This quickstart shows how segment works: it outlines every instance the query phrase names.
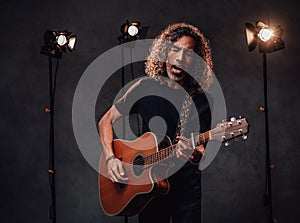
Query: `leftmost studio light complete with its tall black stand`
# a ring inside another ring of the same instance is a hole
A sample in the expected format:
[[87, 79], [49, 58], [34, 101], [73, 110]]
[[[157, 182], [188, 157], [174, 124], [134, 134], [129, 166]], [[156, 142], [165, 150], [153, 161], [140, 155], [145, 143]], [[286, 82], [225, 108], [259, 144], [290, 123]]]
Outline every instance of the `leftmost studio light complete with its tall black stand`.
[[[70, 35], [68, 31], [50, 31], [47, 30], [44, 34], [44, 45], [41, 48], [41, 54], [48, 56], [49, 63], [49, 107], [45, 112], [50, 115], [49, 119], [49, 186], [51, 193], [51, 204], [49, 206], [49, 219], [56, 223], [56, 193], [55, 193], [55, 147], [54, 147], [54, 110], [55, 110], [55, 90], [56, 77], [58, 71], [59, 59], [62, 52], [73, 51], [75, 46], [75, 35]], [[52, 57], [57, 58], [55, 73], [52, 74]]]

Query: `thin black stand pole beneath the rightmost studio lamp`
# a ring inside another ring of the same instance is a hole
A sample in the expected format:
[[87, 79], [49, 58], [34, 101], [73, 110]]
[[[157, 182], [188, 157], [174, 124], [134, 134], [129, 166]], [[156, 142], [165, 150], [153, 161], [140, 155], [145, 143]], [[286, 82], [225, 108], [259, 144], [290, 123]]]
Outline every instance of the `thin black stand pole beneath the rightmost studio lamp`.
[[266, 182], [263, 195], [264, 206], [267, 212], [268, 223], [274, 223], [272, 211], [272, 185], [271, 185], [271, 164], [269, 144], [269, 108], [268, 108], [268, 86], [267, 86], [267, 55], [262, 53], [263, 81], [264, 81], [264, 113], [265, 113], [265, 140], [266, 140]]

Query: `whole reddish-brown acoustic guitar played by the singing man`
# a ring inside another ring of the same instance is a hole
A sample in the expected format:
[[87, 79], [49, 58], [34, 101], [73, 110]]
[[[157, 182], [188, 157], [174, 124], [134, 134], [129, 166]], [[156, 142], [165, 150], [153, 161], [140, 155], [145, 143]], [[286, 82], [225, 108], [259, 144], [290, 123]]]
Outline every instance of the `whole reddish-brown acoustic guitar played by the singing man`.
[[[247, 138], [246, 118], [218, 123], [204, 133], [192, 134], [188, 143], [196, 146], [218, 140], [225, 142], [242, 136]], [[128, 181], [113, 183], [106, 175], [104, 155], [100, 158], [99, 196], [103, 211], [109, 216], [133, 216], [138, 214], [153, 198], [168, 193], [168, 162], [175, 156], [176, 144], [160, 148], [155, 134], [147, 132], [133, 141], [113, 140], [115, 157], [123, 162]], [[174, 158], [173, 158], [174, 159]]]

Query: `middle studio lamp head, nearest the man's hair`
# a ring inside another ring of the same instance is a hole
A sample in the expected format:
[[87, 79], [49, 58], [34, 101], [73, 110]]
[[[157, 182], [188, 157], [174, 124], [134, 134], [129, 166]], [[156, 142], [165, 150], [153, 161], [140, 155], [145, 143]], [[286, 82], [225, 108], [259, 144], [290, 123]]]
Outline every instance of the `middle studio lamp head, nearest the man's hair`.
[[141, 26], [140, 22], [129, 22], [128, 20], [121, 26], [121, 35], [118, 37], [119, 43], [127, 43], [146, 37], [148, 27]]

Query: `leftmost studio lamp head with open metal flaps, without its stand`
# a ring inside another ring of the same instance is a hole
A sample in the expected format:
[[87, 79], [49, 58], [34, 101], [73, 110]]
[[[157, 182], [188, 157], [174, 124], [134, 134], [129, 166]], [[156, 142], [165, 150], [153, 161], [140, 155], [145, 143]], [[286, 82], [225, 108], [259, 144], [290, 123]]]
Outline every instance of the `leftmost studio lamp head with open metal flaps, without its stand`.
[[70, 52], [74, 50], [76, 35], [71, 35], [72, 33], [65, 31], [51, 31], [47, 30], [44, 34], [44, 46], [42, 46], [41, 53], [55, 57], [61, 58], [62, 52]]

